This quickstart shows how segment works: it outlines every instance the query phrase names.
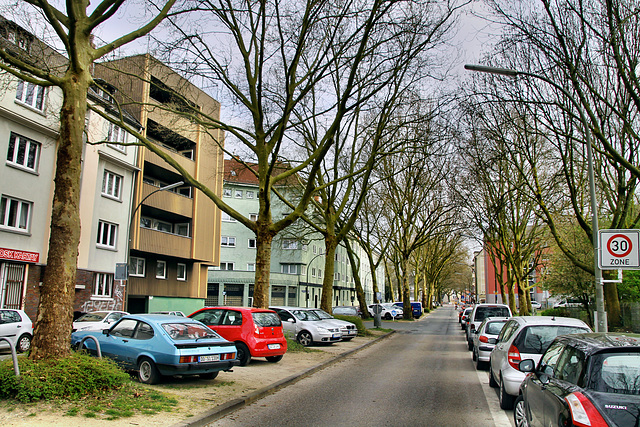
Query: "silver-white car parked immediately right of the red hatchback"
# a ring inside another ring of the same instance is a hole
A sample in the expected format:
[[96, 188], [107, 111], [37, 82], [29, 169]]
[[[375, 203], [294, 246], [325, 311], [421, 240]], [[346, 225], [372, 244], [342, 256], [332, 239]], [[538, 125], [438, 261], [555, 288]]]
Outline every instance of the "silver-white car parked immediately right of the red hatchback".
[[285, 333], [293, 337], [303, 346], [313, 343], [333, 343], [342, 339], [340, 328], [333, 323], [320, 319], [312, 308], [304, 307], [269, 307], [280, 316]]

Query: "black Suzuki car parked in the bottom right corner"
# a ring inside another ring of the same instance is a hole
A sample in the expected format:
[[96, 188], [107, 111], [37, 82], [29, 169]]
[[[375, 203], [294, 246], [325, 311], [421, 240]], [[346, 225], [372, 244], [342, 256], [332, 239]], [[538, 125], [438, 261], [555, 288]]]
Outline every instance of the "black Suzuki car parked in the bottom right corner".
[[556, 338], [520, 387], [516, 426], [634, 426], [640, 419], [640, 335], [573, 334]]

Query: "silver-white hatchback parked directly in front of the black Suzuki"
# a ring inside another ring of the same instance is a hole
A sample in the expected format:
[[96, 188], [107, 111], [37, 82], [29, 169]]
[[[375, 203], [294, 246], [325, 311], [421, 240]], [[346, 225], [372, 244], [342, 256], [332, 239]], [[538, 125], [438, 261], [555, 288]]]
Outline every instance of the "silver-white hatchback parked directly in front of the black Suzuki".
[[504, 325], [489, 360], [489, 385], [499, 387], [500, 407], [511, 409], [525, 374], [518, 364], [524, 359], [536, 363], [551, 342], [560, 335], [591, 332], [582, 320], [570, 317], [516, 316]]

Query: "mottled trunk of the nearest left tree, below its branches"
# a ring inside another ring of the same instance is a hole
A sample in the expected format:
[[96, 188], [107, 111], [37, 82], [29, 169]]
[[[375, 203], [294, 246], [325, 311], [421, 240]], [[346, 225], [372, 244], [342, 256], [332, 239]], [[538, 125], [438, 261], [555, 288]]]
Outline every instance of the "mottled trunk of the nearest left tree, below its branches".
[[34, 360], [59, 358], [70, 351], [80, 242], [82, 136], [90, 78], [84, 70], [68, 76], [63, 87], [47, 267], [31, 345]]

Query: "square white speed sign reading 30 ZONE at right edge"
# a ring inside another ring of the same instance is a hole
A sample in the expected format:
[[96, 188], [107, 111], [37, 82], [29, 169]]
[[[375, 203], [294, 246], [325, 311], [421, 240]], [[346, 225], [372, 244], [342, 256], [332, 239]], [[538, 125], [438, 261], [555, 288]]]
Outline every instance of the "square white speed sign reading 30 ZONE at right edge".
[[639, 269], [640, 230], [600, 230], [600, 268]]

